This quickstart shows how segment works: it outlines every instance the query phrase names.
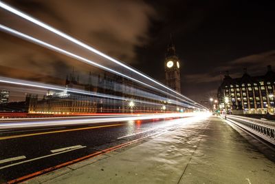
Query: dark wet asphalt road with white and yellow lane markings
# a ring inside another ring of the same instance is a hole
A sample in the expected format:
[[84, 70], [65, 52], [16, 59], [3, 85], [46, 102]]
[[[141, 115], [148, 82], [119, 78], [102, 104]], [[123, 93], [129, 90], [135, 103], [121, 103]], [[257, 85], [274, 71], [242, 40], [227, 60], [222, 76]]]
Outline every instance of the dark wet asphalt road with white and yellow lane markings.
[[0, 130], [0, 183], [167, 131], [188, 119]]

